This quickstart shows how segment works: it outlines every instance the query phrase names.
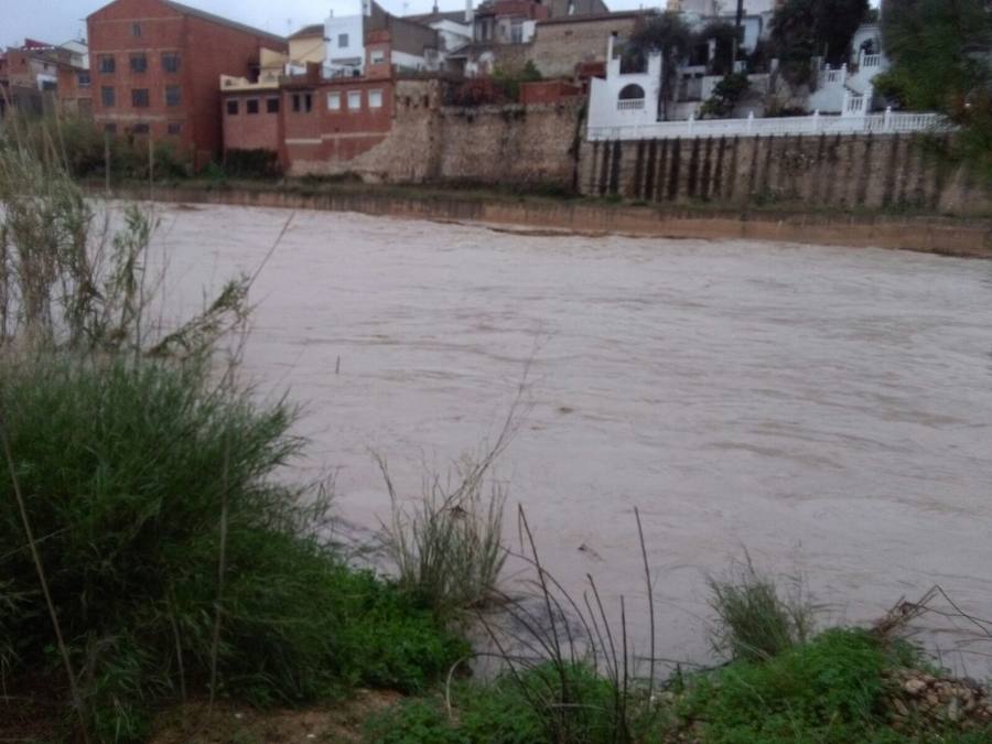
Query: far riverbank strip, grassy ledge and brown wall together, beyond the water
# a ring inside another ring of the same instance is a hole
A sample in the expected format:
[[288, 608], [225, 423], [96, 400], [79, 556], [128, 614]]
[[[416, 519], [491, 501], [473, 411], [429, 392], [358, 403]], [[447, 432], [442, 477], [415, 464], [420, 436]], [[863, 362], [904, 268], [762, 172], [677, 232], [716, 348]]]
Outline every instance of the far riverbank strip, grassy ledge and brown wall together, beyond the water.
[[[91, 185], [91, 191], [101, 187]], [[852, 248], [888, 248], [992, 258], [992, 217], [883, 212], [729, 209], [657, 206], [495, 190], [368, 185], [353, 182], [185, 181], [122, 184], [120, 198], [356, 212], [375, 216], [481, 224], [527, 234], [748, 239]]]

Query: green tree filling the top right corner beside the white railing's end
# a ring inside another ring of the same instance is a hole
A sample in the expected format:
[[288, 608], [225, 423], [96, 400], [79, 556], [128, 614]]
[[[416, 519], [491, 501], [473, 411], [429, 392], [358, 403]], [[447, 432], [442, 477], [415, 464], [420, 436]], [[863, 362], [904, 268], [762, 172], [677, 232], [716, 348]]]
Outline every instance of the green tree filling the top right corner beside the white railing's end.
[[882, 33], [893, 64], [876, 90], [947, 115], [961, 127], [953, 154], [992, 179], [992, 1], [886, 0]]

